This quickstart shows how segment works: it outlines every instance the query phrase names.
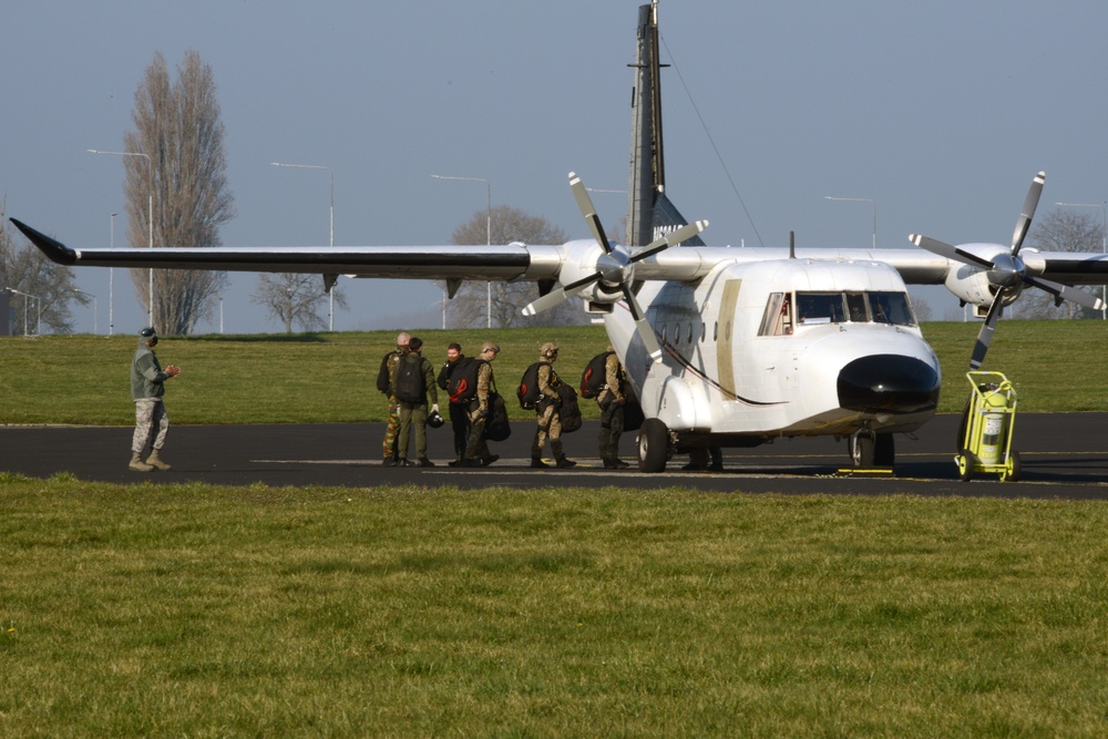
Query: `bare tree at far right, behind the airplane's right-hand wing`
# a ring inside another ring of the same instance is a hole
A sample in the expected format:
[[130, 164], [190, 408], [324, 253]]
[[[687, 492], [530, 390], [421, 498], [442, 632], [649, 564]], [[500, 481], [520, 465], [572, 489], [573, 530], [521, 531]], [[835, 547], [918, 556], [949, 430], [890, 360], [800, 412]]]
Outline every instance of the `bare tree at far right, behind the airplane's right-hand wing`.
[[[1100, 252], [1104, 236], [1104, 225], [1097, 215], [1071, 208], [1055, 208], [1035, 223], [1027, 235], [1027, 245], [1044, 252]], [[1055, 306], [1053, 295], [1032, 288], [1024, 290], [1007, 310], [1012, 310], [1013, 318], [1100, 317], [1098, 311], [1069, 300]]]

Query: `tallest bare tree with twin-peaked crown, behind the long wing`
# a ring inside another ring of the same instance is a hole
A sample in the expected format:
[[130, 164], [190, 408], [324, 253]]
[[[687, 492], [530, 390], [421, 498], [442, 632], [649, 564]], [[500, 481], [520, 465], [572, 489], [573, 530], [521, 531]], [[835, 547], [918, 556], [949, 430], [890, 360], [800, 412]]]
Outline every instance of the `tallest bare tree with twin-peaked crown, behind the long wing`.
[[[220, 246], [218, 228], [235, 217], [235, 201], [224, 174], [215, 78], [197, 52], [185, 52], [171, 84], [162, 54], [155, 53], [135, 92], [134, 131], [123, 136], [126, 167], [127, 239], [148, 245], [148, 201], [153, 197], [153, 239], [158, 246]], [[138, 298], [147, 301], [145, 269], [132, 269]], [[154, 273], [154, 325], [163, 333], [188, 333], [216, 305], [226, 273]]]

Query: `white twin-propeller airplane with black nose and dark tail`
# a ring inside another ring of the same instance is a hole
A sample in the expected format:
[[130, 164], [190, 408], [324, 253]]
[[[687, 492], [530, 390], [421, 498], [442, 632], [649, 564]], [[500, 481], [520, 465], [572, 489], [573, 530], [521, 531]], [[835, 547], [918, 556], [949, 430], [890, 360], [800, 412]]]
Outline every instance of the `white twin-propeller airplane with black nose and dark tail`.
[[[665, 196], [657, 4], [639, 9], [629, 233], [611, 243], [581, 178], [570, 184], [592, 232], [561, 245], [74, 249], [12, 223], [70, 266], [154, 267], [356, 277], [532, 281], [526, 315], [581, 297], [603, 315], [643, 408], [638, 465], [659, 472], [675, 452], [753, 447], [778, 438], [848, 440], [856, 468], [892, 466], [895, 433], [917, 430], [938, 403], [941, 370], [906, 284], [945, 285], [988, 307], [973, 351], [979, 366], [1004, 306], [1030, 285], [1100, 309], [1071, 285], [1108, 281], [1108, 257], [1020, 254], [1043, 189], [1032, 183], [1010, 246], [951, 246], [912, 236], [906, 249], [702, 246], [707, 222], [685, 224]], [[646, 236], [643, 236], [646, 235]], [[695, 244], [680, 246], [680, 244]], [[1050, 279], [1047, 279], [1049, 277]]]

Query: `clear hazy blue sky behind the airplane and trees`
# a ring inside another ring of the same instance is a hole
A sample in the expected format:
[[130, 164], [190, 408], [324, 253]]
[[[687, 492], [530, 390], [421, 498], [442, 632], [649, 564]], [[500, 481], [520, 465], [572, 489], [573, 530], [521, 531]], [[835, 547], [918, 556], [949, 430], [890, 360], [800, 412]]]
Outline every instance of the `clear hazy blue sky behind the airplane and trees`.
[[[484, 209], [485, 186], [435, 173], [485, 177], [493, 205], [583, 237], [566, 174], [627, 186], [639, 4], [7, 0], [0, 196], [72, 246], [106, 245], [123, 163], [85, 150], [122, 148], [155, 52], [175, 68], [195, 49], [226, 127], [238, 212], [226, 245], [327, 244], [327, 173], [275, 161], [332, 170], [337, 244], [448, 244]], [[669, 193], [711, 222], [708, 244], [757, 245], [756, 227], [767, 246], [790, 230], [801, 246], [869, 246], [871, 205], [828, 195], [875, 202], [879, 247], [913, 232], [1007, 243], [1039, 170], [1040, 215], [1108, 198], [1108, 3], [663, 0], [660, 19], [676, 62], [664, 72]], [[594, 198], [617, 225], [626, 197]], [[78, 275], [106, 332], [107, 270]], [[248, 300], [257, 276], [232, 279], [225, 330], [279, 330]], [[430, 283], [342, 284], [352, 308], [339, 330], [441, 320]], [[956, 307], [925, 295], [936, 318]], [[136, 331], [145, 311], [120, 270], [114, 298], [115, 331]], [[75, 319], [92, 330], [91, 307]]]

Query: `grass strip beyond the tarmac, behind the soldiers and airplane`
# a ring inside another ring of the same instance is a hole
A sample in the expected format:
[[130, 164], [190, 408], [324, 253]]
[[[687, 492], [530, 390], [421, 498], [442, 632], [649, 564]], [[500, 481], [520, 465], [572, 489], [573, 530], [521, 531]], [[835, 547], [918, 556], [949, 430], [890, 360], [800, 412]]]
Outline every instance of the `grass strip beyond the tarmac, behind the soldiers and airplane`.
[[[942, 412], [961, 411], [965, 371], [979, 324], [927, 324], [924, 335], [943, 367]], [[494, 338], [500, 391], [515, 392], [523, 370], [548, 340], [562, 346], [555, 366], [574, 382], [607, 339], [601, 327], [419, 331], [424, 355], [442, 361], [450, 341], [466, 353]], [[369, 333], [203, 336], [166, 338], [163, 365], [184, 368], [167, 386], [174, 423], [341, 423], [381, 421], [388, 408], [375, 387], [392, 331]], [[129, 425], [134, 422], [127, 380], [137, 339], [130, 336], [0, 338], [0, 423]], [[1104, 321], [1005, 321], [986, 368], [1012, 379], [1026, 411], [1104, 410], [1108, 398]], [[510, 403], [513, 418], [532, 413]], [[444, 407], [444, 403], [443, 403]], [[582, 403], [586, 419], [595, 403]]]

